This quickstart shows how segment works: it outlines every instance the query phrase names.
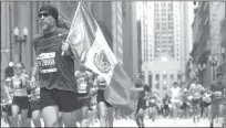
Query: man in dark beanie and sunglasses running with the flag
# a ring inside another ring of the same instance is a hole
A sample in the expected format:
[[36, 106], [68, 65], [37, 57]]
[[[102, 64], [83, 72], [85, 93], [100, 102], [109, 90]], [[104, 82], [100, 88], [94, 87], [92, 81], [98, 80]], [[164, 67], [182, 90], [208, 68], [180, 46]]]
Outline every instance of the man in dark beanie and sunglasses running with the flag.
[[[34, 84], [39, 72], [40, 107], [45, 127], [59, 127], [59, 111], [65, 127], [75, 127], [75, 114], [79, 109], [78, 86], [74, 77], [74, 60], [69, 44], [68, 31], [56, 26], [59, 12], [52, 4], [43, 4], [39, 11], [41, 32], [32, 43], [37, 55], [37, 65], [32, 72]], [[64, 52], [64, 55], [61, 53]]]

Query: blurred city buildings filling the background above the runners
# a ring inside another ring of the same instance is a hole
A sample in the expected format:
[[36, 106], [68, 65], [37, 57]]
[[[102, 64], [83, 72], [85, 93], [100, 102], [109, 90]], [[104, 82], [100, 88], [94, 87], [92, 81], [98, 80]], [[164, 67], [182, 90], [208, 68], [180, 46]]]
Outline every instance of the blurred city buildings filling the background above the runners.
[[[72, 20], [78, 2], [53, 2]], [[38, 13], [43, 1], [1, 1], [1, 83], [23, 62], [34, 65], [32, 38], [40, 32]], [[208, 1], [88, 1], [84, 2], [109, 45], [134, 79], [140, 75], [161, 98], [173, 82], [187, 87], [194, 77], [203, 86], [226, 73], [226, 3]], [[10, 63], [11, 62], [11, 63]], [[225, 77], [224, 77], [225, 78]], [[226, 82], [224, 79], [224, 82]]]

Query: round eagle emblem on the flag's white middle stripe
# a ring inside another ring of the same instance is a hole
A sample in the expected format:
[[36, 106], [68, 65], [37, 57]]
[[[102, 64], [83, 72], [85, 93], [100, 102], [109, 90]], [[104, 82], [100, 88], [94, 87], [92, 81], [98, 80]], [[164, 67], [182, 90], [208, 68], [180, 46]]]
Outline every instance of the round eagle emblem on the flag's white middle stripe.
[[111, 71], [111, 63], [104, 50], [94, 54], [93, 63], [101, 73], [109, 73]]

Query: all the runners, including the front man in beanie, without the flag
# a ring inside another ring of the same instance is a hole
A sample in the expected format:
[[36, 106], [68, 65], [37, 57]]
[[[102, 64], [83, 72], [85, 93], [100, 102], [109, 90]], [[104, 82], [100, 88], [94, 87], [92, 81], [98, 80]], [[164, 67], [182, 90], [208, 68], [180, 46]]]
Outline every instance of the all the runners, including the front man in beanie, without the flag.
[[[209, 85], [201, 85], [198, 78], [182, 88], [174, 82], [167, 95], [160, 98], [157, 90], [136, 77], [133, 92], [138, 93], [137, 109], [131, 116], [114, 108], [104, 98], [106, 81], [83, 64], [74, 70], [74, 56], [63, 42], [68, 25], [58, 24], [59, 12], [54, 6], [44, 4], [39, 12], [42, 32], [32, 41], [37, 64], [28, 75], [24, 64], [14, 65], [16, 73], [1, 86], [1, 111], [11, 127], [89, 127], [100, 121], [101, 127], [113, 127], [114, 119], [134, 119], [144, 127], [144, 119], [192, 118], [198, 122], [208, 118], [223, 119], [225, 85], [223, 74]], [[65, 54], [62, 55], [61, 53]], [[76, 86], [75, 86], [76, 85]]]

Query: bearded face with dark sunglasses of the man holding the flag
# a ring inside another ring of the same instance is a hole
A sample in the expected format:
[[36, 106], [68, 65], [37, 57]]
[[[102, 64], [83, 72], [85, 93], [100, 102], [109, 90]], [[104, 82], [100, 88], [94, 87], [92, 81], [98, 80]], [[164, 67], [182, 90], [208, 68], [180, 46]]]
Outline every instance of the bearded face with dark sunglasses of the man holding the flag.
[[42, 11], [39, 13], [39, 24], [42, 31], [49, 32], [53, 28], [54, 23], [55, 20], [49, 12]]

